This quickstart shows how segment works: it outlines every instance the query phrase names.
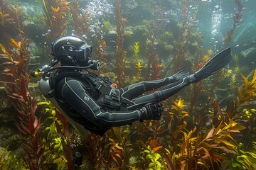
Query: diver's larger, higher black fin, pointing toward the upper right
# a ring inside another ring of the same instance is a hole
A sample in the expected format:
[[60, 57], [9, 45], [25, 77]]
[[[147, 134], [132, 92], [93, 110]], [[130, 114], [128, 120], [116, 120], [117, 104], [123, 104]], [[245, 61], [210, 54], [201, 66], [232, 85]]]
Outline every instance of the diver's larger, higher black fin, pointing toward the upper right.
[[201, 69], [195, 73], [196, 81], [205, 79], [215, 72], [220, 71], [220, 69], [223, 69], [223, 67], [229, 64], [232, 60], [233, 58], [231, 56], [231, 48], [228, 47], [227, 49], [212, 57], [205, 65], [203, 65]]

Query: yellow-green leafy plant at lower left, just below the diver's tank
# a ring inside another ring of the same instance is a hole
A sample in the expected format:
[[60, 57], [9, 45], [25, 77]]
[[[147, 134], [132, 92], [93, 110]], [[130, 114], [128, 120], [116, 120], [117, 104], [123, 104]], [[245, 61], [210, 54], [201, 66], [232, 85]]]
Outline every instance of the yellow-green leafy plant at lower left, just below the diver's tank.
[[47, 141], [50, 141], [50, 143], [45, 141], [43, 145], [45, 149], [44, 157], [50, 159], [46, 161], [53, 162], [59, 169], [63, 167], [74, 169], [71, 148], [74, 135], [70, 137], [67, 120], [55, 110], [55, 106], [52, 103], [43, 101], [39, 102], [38, 105], [47, 106], [45, 110], [50, 115], [47, 118], [50, 121], [50, 125], [45, 130], [45, 132], [48, 132]]

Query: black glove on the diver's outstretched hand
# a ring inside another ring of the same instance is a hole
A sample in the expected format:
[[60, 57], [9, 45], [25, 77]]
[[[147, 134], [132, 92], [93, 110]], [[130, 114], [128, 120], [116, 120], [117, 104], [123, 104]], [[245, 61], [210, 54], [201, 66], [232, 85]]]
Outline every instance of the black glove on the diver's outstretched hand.
[[164, 111], [161, 103], [149, 104], [140, 108], [140, 121], [143, 120], [159, 120], [161, 118], [161, 112]]

